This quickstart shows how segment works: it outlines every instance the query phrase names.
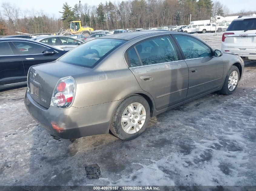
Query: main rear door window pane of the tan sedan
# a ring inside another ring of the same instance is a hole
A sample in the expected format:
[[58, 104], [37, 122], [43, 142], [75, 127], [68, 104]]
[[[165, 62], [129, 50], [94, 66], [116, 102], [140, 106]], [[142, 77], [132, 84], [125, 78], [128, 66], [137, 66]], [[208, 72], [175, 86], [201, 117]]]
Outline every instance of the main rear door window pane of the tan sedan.
[[170, 37], [147, 40], [135, 46], [142, 65], [177, 61], [178, 54]]

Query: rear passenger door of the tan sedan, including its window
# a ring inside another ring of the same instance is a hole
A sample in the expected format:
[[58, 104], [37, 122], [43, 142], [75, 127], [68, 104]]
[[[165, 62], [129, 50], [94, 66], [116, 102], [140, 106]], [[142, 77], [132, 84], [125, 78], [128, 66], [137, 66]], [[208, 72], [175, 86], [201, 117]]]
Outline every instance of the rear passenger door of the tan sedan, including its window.
[[127, 50], [129, 68], [141, 88], [154, 98], [156, 110], [186, 99], [188, 66], [175, 46], [170, 36], [160, 36]]

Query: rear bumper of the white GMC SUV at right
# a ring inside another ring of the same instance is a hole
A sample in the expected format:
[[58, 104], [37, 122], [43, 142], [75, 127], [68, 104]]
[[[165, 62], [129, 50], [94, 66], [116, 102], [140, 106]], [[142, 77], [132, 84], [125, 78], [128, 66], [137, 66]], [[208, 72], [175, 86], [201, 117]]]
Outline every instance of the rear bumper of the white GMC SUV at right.
[[246, 60], [256, 60], [256, 49], [230, 49], [230, 48], [222, 48], [222, 52], [224, 53], [232, 53], [239, 55], [242, 59]]

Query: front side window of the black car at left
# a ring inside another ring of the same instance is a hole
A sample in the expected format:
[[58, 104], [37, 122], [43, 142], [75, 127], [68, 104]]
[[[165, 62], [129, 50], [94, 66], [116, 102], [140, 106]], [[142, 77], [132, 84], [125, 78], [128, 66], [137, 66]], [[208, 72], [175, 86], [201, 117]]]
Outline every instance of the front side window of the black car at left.
[[48, 47], [35, 44], [35, 43], [29, 43], [29, 42], [20, 42], [15, 41], [13, 44], [18, 49], [19, 54], [42, 54], [45, 50], [49, 49]]

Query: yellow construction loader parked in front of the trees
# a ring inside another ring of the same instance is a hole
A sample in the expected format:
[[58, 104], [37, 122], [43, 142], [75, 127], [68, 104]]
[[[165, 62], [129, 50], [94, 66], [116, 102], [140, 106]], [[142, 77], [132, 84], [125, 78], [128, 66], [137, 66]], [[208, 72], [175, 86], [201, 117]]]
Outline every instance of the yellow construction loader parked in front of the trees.
[[83, 34], [85, 37], [91, 35], [93, 28], [87, 26], [81, 26], [81, 21], [71, 21], [69, 29], [62, 31], [59, 35], [72, 35], [72, 34]]

